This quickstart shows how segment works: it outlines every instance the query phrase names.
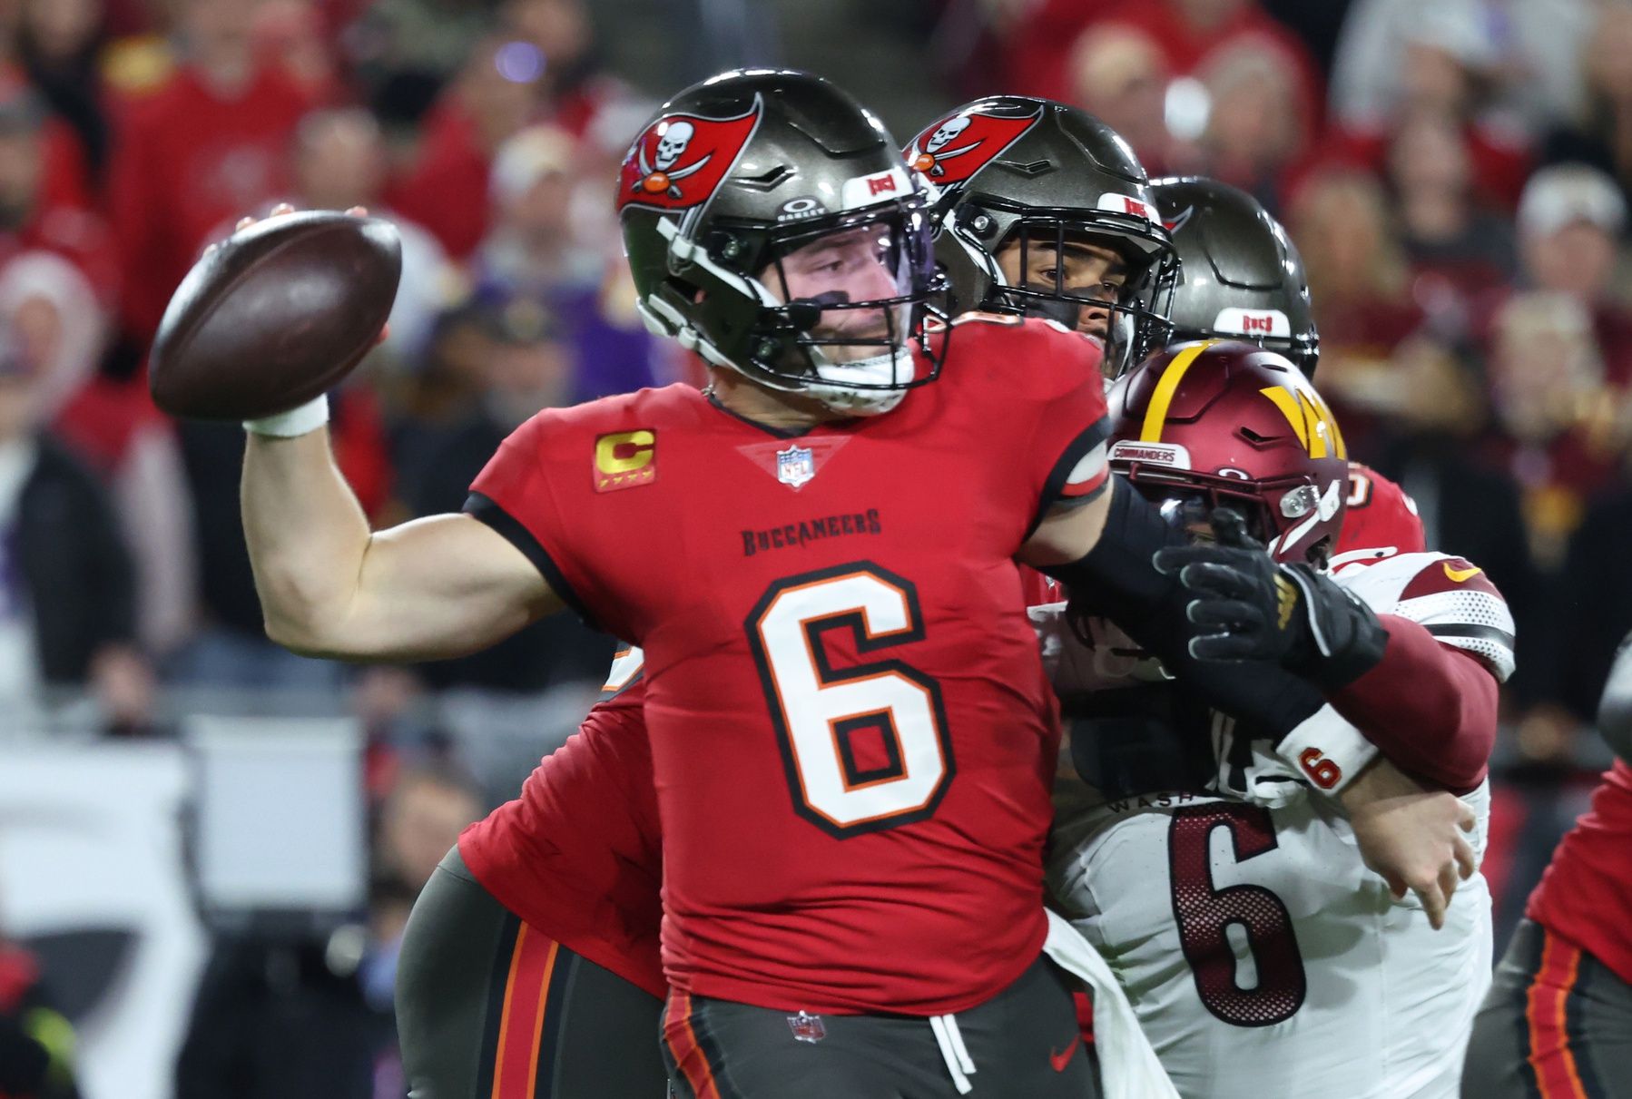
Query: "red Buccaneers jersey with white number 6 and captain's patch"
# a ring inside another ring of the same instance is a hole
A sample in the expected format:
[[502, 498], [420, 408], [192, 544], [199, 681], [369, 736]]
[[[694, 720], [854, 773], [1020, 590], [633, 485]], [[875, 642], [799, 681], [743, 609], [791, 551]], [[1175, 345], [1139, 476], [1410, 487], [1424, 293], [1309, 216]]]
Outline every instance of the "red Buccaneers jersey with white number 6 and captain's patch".
[[1036, 959], [1059, 734], [1012, 558], [1105, 486], [1097, 370], [1056, 324], [960, 323], [885, 416], [788, 435], [643, 390], [478, 476], [470, 510], [645, 649], [674, 988], [943, 1014]]

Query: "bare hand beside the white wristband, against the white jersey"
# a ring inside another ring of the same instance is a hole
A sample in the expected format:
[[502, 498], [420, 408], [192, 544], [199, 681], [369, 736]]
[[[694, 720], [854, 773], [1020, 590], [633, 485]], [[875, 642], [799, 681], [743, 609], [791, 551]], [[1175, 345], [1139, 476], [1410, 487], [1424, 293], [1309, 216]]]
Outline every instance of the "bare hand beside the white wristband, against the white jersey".
[[1444, 789], [1377, 758], [1343, 788], [1355, 841], [1366, 866], [1389, 884], [1395, 898], [1417, 894], [1438, 931], [1459, 881], [1474, 876], [1474, 810]]

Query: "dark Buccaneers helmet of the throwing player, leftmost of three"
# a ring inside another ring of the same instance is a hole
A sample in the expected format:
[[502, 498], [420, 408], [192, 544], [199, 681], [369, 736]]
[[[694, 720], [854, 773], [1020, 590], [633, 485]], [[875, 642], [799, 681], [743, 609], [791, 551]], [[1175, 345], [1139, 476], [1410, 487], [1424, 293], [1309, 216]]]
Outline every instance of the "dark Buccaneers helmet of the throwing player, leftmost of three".
[[832, 83], [761, 68], [687, 88], [630, 147], [617, 209], [646, 326], [710, 364], [854, 414], [940, 372], [927, 197]]

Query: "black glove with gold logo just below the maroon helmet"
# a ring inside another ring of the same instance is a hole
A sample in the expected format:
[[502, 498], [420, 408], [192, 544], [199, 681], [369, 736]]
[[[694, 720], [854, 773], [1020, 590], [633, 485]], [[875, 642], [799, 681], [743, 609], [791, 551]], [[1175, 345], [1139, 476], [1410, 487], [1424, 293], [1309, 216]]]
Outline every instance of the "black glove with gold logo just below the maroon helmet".
[[1389, 633], [1369, 607], [1307, 564], [1276, 564], [1240, 514], [1217, 507], [1217, 541], [1169, 546], [1155, 567], [1190, 594], [1198, 660], [1279, 660], [1324, 690], [1353, 683], [1382, 660]]

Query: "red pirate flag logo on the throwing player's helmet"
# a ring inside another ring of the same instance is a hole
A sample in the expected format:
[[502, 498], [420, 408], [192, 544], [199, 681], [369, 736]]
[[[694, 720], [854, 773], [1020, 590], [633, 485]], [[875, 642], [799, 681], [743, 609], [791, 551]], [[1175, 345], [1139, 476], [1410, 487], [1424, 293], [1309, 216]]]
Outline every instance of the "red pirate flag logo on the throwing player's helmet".
[[708, 201], [759, 124], [759, 99], [734, 119], [666, 114], [635, 139], [619, 173], [617, 209], [684, 210]]

